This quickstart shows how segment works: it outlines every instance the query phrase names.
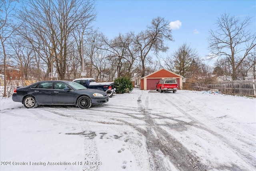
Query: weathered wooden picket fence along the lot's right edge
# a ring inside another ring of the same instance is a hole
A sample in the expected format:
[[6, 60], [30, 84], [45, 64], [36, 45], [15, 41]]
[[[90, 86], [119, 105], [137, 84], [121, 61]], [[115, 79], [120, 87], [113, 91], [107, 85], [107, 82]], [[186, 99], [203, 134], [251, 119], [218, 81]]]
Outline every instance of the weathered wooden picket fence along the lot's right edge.
[[208, 84], [210, 89], [218, 89], [224, 94], [247, 95], [256, 97], [256, 80], [224, 81]]

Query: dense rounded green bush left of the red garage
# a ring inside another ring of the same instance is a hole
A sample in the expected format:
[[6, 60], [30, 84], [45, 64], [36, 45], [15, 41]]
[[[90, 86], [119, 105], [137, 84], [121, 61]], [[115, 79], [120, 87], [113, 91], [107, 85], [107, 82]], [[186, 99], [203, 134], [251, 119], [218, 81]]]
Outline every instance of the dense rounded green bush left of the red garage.
[[130, 93], [132, 91], [132, 81], [126, 77], [120, 77], [114, 80], [116, 93], [123, 94], [123, 93]]

